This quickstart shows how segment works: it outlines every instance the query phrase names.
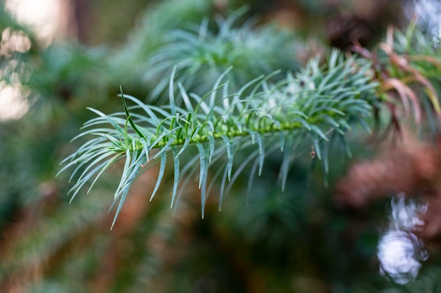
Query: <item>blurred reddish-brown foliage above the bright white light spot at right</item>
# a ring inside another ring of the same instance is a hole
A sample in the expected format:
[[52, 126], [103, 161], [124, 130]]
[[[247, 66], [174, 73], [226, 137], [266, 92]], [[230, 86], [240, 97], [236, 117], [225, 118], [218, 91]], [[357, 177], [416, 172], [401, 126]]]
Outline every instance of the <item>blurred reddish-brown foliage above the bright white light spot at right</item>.
[[[428, 202], [421, 215], [423, 240], [441, 237], [441, 138], [424, 142], [404, 129], [399, 141], [383, 143], [373, 159], [356, 162], [335, 188], [338, 204], [363, 209], [375, 200], [398, 193], [417, 196]], [[439, 240], [439, 239], [438, 239]]]

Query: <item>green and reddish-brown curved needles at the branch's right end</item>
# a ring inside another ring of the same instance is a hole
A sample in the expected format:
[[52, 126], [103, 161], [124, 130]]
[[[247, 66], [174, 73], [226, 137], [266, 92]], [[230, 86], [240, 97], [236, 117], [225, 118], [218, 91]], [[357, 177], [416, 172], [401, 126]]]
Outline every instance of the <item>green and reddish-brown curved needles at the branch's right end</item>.
[[426, 120], [433, 134], [439, 131], [441, 56], [433, 41], [411, 22], [405, 33], [388, 27], [385, 41], [372, 51], [352, 47], [371, 60], [380, 84], [378, 94], [390, 112], [389, 125], [381, 136], [390, 130], [399, 133], [404, 117], [412, 117], [418, 127]]

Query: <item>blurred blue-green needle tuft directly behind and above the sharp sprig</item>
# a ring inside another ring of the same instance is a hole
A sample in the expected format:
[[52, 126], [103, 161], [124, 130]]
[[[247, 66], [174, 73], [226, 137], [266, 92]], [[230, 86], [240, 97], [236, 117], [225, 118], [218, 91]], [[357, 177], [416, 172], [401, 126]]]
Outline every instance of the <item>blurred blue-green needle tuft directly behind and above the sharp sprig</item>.
[[242, 84], [276, 69], [297, 70], [299, 65], [292, 54], [297, 51], [292, 32], [275, 25], [255, 27], [248, 20], [240, 24], [247, 8], [242, 7], [228, 18], [216, 18], [212, 25], [208, 18], [200, 25], [170, 30], [160, 38], [161, 45], [147, 59], [144, 79], [154, 84], [150, 100], [168, 100], [168, 77], [176, 67], [176, 81], [191, 91], [209, 91], [211, 84], [222, 72], [235, 68], [230, 86], [235, 91]]

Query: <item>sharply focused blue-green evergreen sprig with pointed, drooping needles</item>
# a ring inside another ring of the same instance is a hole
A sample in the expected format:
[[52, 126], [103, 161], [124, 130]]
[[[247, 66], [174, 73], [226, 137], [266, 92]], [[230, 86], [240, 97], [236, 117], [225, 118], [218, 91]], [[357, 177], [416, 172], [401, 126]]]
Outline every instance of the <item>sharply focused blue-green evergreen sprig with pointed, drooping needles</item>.
[[[63, 160], [66, 166], [60, 172], [75, 167], [70, 179], [76, 178], [76, 183], [69, 191], [73, 198], [87, 182], [92, 181], [90, 190], [106, 169], [125, 159], [114, 195], [115, 203], [119, 203], [112, 227], [139, 172], [159, 162], [159, 176], [151, 194], [151, 198], [154, 197], [166, 170], [168, 155], [174, 165], [171, 205], [178, 200], [188, 178], [199, 169], [202, 216], [207, 190], [211, 188], [207, 186], [209, 169], [215, 162], [223, 161], [224, 166], [213, 176], [222, 176], [222, 202], [225, 190], [240, 171], [252, 164], [251, 176], [257, 169], [261, 174], [268, 153], [280, 149], [283, 190], [290, 162], [300, 143], [310, 141], [328, 171], [330, 134], [344, 141], [351, 124], [358, 122], [368, 129], [366, 119], [373, 110], [374, 90], [378, 86], [372, 82], [370, 67], [368, 63], [363, 65], [354, 57], [344, 58], [333, 51], [325, 66], [319, 66], [318, 59], [311, 60], [304, 70], [288, 74], [277, 84], [267, 82], [270, 74], [252, 80], [234, 93], [228, 90], [229, 69], [218, 77], [212, 91], [205, 96], [187, 93], [180, 82], [174, 82], [173, 70], [168, 105], [146, 105], [121, 90], [124, 112], [106, 115], [89, 108], [98, 117], [86, 122], [84, 131], [76, 138], [92, 138]], [[221, 84], [223, 80], [226, 81]], [[175, 95], [175, 87], [179, 95]], [[128, 106], [128, 101], [135, 105]], [[235, 154], [250, 145], [256, 145], [254, 152], [233, 173]], [[181, 167], [184, 155], [192, 153], [194, 148], [197, 155]], [[187, 180], [182, 181], [185, 176]]]

